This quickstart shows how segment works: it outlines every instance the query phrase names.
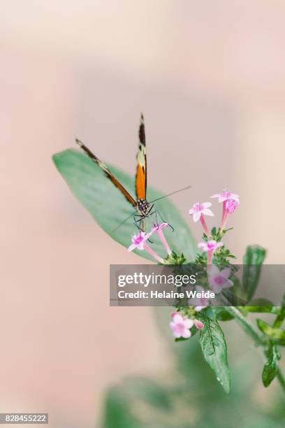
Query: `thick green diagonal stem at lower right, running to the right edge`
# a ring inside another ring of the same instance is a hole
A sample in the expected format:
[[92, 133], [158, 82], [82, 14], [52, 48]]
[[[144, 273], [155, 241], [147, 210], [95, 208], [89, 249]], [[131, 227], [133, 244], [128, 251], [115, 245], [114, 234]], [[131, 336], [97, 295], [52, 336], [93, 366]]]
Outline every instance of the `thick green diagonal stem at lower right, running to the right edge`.
[[[254, 325], [251, 323], [251, 321], [247, 320], [247, 318], [242, 315], [242, 313], [238, 310], [238, 308], [235, 308], [235, 306], [225, 306], [224, 307], [228, 313], [231, 313], [235, 320], [240, 324], [242, 329], [251, 337], [254, 339], [254, 342], [258, 346], [263, 347], [263, 352], [266, 355], [266, 347], [268, 345], [268, 340], [263, 336], [263, 334], [259, 331], [256, 331], [254, 329]], [[277, 371], [277, 379], [279, 380], [279, 384], [282, 387], [282, 390], [285, 393], [285, 376], [282, 372], [282, 369], [278, 367]]]

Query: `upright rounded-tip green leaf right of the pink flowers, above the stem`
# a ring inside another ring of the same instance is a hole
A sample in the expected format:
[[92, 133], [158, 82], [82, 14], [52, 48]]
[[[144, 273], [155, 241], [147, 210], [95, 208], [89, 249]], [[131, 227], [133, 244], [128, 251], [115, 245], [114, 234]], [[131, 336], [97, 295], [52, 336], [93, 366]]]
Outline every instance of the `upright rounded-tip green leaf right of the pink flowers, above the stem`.
[[265, 249], [258, 245], [247, 247], [242, 274], [242, 294], [244, 299], [250, 300], [254, 297], [265, 255]]

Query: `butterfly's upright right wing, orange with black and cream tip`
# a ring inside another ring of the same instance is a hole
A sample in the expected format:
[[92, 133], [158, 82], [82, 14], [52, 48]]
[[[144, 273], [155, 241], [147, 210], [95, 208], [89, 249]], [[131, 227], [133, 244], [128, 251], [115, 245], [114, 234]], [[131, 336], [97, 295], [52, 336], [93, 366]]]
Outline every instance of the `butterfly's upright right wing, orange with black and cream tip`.
[[140, 128], [138, 131], [138, 155], [136, 171], [136, 197], [146, 199], [147, 197], [147, 154], [145, 150], [145, 122], [143, 115], [140, 116]]

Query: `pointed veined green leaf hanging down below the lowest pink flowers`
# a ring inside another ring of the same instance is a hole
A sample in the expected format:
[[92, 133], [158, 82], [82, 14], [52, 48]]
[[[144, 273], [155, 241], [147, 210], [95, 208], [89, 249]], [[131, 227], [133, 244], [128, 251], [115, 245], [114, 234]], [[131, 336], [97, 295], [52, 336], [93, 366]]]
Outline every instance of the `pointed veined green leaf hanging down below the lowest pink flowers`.
[[200, 346], [204, 358], [228, 394], [231, 381], [224, 332], [217, 321], [204, 317], [203, 323], [204, 328], [200, 331]]

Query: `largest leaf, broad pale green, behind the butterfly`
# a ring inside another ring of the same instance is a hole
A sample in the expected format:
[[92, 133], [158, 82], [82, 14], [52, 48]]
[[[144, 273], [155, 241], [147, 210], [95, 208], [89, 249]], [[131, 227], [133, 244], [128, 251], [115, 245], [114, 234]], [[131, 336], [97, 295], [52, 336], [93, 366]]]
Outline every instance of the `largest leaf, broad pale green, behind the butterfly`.
[[[78, 150], [68, 149], [53, 156], [57, 169], [66, 180], [68, 187], [75, 197], [81, 202], [96, 222], [115, 241], [129, 247], [131, 236], [137, 232], [133, 224], [133, 206], [124, 198], [124, 195], [112, 184], [102, 169], [92, 162], [87, 155]], [[126, 187], [131, 194], [134, 194], [134, 178], [120, 171], [114, 166], [108, 165], [112, 173]], [[172, 189], [167, 189], [172, 190]], [[134, 195], [133, 195], [134, 196]], [[147, 188], [147, 198], [149, 201], [162, 197], [163, 194]], [[193, 240], [187, 222], [183, 219], [177, 208], [167, 198], [155, 202], [156, 210], [161, 214], [163, 220], [171, 224], [175, 231], [170, 228], [164, 229], [166, 238], [172, 250], [177, 254], [184, 252], [187, 259], [194, 259], [196, 255], [196, 243]], [[129, 217], [126, 220], [126, 217]], [[124, 222], [124, 220], [126, 220]], [[161, 218], [159, 218], [161, 221]], [[124, 222], [119, 228], [119, 224]], [[159, 238], [152, 238], [152, 248], [161, 257], [166, 257], [166, 251], [159, 241]], [[145, 259], [152, 259], [145, 251], [135, 250], [135, 252]]]

